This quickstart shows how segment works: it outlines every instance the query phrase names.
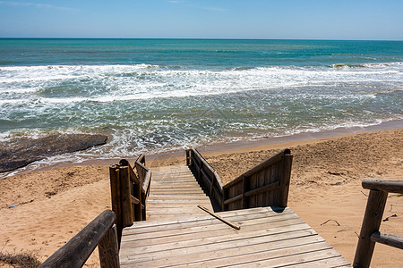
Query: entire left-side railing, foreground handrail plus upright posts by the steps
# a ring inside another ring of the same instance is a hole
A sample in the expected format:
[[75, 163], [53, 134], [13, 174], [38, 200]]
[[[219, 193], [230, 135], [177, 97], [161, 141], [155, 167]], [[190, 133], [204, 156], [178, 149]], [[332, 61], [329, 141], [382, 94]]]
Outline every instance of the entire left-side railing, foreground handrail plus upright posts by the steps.
[[81, 267], [97, 246], [102, 268], [120, 266], [122, 229], [146, 220], [146, 199], [150, 195], [151, 172], [145, 166], [145, 156], [140, 155], [134, 166], [137, 174], [125, 159], [110, 166], [113, 211], [99, 214], [40, 267]]

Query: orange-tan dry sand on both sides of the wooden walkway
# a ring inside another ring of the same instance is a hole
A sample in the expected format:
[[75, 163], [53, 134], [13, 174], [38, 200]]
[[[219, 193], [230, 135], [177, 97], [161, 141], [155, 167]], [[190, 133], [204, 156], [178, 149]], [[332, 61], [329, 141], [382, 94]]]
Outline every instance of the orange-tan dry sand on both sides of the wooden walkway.
[[[283, 148], [294, 155], [288, 206], [353, 262], [368, 190], [366, 177], [403, 179], [403, 129], [205, 154], [227, 182]], [[202, 151], [201, 151], [202, 152]], [[204, 154], [203, 154], [204, 155]], [[116, 160], [116, 163], [118, 160]], [[182, 158], [150, 166], [184, 163]], [[105, 209], [110, 209], [107, 165], [80, 165], [0, 179], [0, 249], [31, 251], [45, 260]], [[13, 208], [9, 208], [16, 205]], [[394, 217], [390, 217], [396, 215]], [[381, 230], [403, 236], [403, 197], [390, 194]], [[377, 245], [373, 267], [398, 267], [399, 249]], [[86, 266], [98, 266], [98, 252]]]

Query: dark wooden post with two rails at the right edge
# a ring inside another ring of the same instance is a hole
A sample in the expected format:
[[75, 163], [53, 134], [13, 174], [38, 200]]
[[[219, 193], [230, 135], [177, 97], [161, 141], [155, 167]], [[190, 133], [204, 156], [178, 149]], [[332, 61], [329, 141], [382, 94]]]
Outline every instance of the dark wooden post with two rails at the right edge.
[[364, 214], [354, 267], [369, 267], [373, 258], [375, 243], [403, 249], [403, 238], [379, 231], [388, 193], [403, 194], [403, 180], [364, 179], [363, 188], [370, 189]]

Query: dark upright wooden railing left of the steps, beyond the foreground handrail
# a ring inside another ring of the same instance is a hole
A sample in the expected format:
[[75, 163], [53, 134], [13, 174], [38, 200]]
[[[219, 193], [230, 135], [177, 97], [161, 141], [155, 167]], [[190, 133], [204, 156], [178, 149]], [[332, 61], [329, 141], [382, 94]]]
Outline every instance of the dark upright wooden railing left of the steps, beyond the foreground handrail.
[[145, 156], [140, 155], [134, 163], [122, 159], [109, 168], [112, 210], [116, 214], [118, 241], [124, 227], [133, 222], [146, 220], [146, 199], [150, 194], [151, 172], [145, 166]]

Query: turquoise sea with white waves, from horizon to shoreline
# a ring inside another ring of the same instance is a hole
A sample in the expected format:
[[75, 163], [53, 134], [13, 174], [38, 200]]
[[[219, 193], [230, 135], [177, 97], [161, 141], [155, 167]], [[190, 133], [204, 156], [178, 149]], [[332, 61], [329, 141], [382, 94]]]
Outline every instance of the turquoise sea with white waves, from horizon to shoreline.
[[0, 39], [0, 138], [111, 137], [79, 161], [373, 125], [402, 71], [399, 41]]

